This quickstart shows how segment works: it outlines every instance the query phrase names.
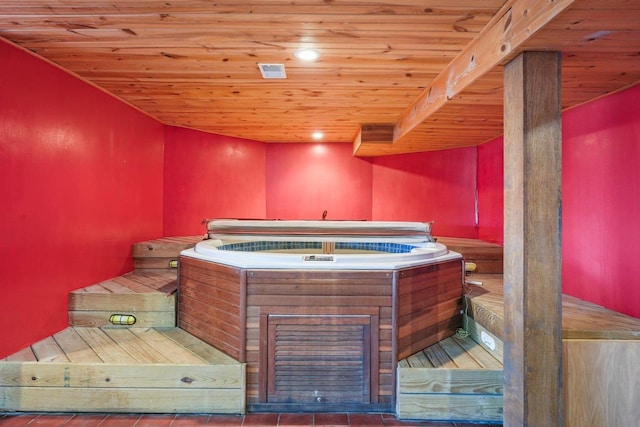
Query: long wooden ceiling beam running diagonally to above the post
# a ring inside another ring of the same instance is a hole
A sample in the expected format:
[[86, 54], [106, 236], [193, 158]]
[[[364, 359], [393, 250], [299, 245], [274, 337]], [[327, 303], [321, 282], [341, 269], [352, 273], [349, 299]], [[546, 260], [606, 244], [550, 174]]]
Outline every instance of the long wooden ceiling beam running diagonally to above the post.
[[[519, 54], [528, 40], [574, 1], [507, 0], [478, 36], [404, 110], [394, 126], [393, 139], [387, 142], [401, 144], [414, 128], [466, 88]], [[355, 155], [365, 147], [364, 141], [354, 141]]]

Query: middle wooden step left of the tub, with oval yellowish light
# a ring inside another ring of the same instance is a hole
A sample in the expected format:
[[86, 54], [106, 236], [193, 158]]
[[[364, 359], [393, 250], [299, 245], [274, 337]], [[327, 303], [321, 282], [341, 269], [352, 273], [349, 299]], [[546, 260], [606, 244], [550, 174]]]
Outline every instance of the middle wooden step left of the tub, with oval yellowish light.
[[[177, 286], [173, 271], [134, 271], [75, 290], [69, 294], [69, 325], [175, 326]], [[113, 315], [133, 316], [135, 323], [114, 325], [110, 322]]]

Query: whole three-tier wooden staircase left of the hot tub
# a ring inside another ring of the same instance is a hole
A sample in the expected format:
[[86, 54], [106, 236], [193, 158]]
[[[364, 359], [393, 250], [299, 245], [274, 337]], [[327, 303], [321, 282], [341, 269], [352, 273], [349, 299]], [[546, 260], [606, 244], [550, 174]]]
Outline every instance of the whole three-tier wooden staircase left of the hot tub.
[[0, 360], [0, 411], [244, 413], [245, 364], [175, 327], [168, 260], [199, 239], [134, 244], [135, 271], [71, 292], [69, 328]]

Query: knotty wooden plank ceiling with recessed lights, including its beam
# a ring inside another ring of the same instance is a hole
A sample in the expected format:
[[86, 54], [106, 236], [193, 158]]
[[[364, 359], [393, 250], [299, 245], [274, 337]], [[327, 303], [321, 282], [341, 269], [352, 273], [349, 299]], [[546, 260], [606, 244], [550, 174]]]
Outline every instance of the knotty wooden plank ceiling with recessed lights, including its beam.
[[0, 37], [168, 125], [358, 156], [501, 135], [524, 50], [562, 52], [563, 108], [640, 81], [640, 0], [2, 0]]

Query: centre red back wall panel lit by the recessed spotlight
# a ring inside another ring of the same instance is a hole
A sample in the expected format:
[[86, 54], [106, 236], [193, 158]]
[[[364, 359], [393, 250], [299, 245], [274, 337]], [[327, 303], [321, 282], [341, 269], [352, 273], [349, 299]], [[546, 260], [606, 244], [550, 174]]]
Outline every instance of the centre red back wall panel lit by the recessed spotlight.
[[267, 144], [267, 217], [371, 219], [371, 164], [351, 144]]

